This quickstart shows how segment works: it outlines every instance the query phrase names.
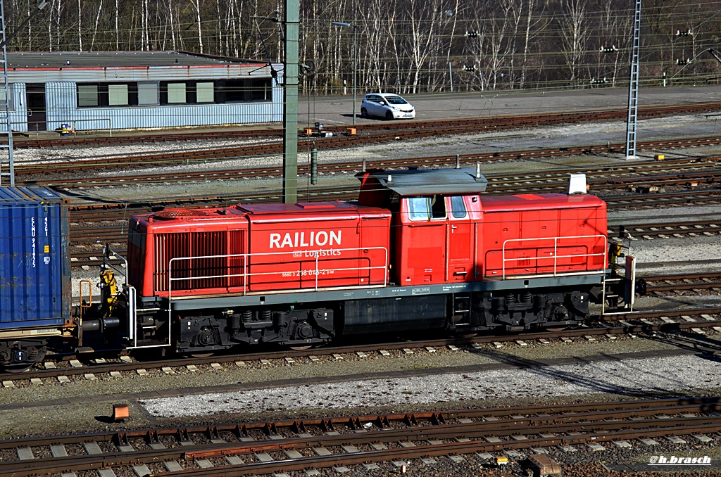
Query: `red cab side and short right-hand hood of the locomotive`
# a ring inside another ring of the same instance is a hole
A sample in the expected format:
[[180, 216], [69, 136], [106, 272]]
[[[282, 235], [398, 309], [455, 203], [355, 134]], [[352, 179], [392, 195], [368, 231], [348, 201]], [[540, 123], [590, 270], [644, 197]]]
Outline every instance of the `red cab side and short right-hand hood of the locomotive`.
[[606, 203], [598, 197], [436, 195], [401, 207], [394, 263], [403, 285], [606, 268]]

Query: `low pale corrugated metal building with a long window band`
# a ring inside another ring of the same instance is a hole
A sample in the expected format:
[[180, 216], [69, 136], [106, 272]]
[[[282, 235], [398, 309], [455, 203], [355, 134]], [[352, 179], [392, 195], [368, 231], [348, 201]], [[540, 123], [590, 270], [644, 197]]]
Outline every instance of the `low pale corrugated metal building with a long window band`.
[[283, 120], [283, 89], [267, 63], [177, 51], [8, 53], [7, 62], [15, 131]]

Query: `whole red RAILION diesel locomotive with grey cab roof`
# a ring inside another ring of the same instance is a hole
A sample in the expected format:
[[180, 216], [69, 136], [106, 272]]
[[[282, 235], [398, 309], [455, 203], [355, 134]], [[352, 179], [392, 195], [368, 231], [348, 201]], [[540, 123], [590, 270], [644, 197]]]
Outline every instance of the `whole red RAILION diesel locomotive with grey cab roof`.
[[124, 295], [133, 347], [564, 326], [603, 299], [598, 197], [486, 196], [485, 177], [469, 169], [358, 177], [357, 203], [133, 218]]

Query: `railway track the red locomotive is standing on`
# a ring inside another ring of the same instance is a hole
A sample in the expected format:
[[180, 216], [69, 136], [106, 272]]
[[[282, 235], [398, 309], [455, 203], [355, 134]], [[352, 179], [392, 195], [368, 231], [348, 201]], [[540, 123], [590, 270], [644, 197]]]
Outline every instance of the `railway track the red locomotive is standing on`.
[[[83, 354], [56, 355], [56, 361], [46, 361], [44, 368], [32, 368], [23, 373], [0, 373], [0, 381], [6, 386], [14, 386], [17, 380], [26, 385], [31, 380], [53, 380], [66, 382], [69, 378], [95, 379], [100, 375], [112, 373], [145, 374], [150, 370], [170, 374], [187, 368], [188, 366], [211, 367], [247, 367], [255, 365], [262, 367], [267, 362], [275, 360], [279, 364], [292, 364], [298, 360], [314, 362], [319, 359], [340, 360], [343, 357], [365, 357], [366, 355], [392, 355], [412, 354], [415, 352], [435, 352], [438, 348], [458, 351], [461, 347], [477, 349], [483, 345], [491, 344], [494, 347], [503, 347], [504, 344], [521, 344], [528, 342], [549, 344], [552, 340], [570, 342], [572, 339], [595, 341], [596, 339], [616, 339], [619, 335], [665, 333], [669, 331], [683, 331], [692, 334], [704, 335], [706, 331], [721, 332], [721, 308], [698, 308], [674, 311], [647, 311], [642, 313], [629, 313], [606, 317], [607, 322], [601, 321], [597, 326], [567, 329], [563, 331], [524, 331], [514, 334], [482, 335], [472, 338], [446, 338], [426, 339], [412, 342], [383, 342], [368, 344], [353, 344], [350, 346], [333, 345], [314, 349], [264, 349], [258, 352], [243, 352], [227, 355], [214, 355], [212, 357], [179, 357], [177, 359], [164, 359], [157, 361], [138, 361], [131, 357], [118, 357], [115, 350], [95, 349], [92, 358], [84, 359]], [[613, 337], [611, 337], [613, 336]], [[713, 352], [710, 350], [709, 352]], [[102, 357], [96, 360], [95, 357]], [[46, 359], [51, 360], [53, 356]], [[90, 377], [88, 377], [90, 375]], [[34, 382], [39, 383], [39, 382]]]

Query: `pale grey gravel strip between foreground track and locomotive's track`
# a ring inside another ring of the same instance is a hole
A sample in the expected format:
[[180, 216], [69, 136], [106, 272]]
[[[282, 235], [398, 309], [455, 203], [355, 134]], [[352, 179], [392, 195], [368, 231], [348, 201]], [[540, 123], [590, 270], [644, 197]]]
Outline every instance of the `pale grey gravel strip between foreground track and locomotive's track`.
[[704, 357], [681, 356], [179, 396], [148, 399], [141, 404], [153, 416], [180, 417], [279, 409], [293, 411], [308, 407], [356, 408], [483, 401], [501, 396], [547, 399], [611, 393], [629, 398], [660, 397], [690, 389], [706, 391], [719, 383], [720, 363]]

